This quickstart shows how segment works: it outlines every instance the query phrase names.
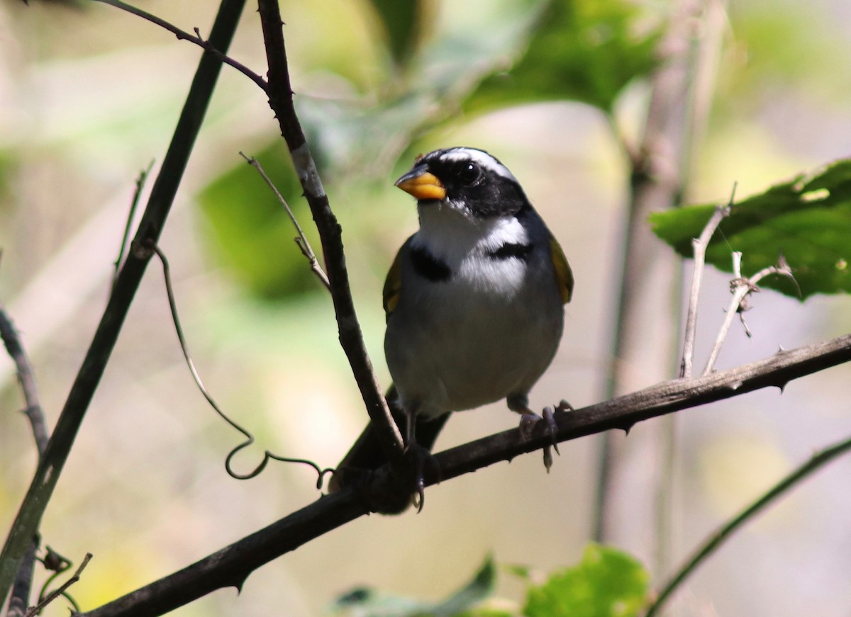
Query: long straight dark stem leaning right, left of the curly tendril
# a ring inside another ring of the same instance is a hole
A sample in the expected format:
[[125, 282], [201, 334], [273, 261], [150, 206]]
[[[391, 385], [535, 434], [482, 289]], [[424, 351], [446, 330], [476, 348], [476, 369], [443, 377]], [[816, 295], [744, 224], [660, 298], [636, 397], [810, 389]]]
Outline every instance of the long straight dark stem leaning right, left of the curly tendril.
[[[227, 49], [236, 31], [245, 0], [222, 0], [213, 25], [210, 41], [217, 49]], [[62, 467], [71, 451], [77, 431], [103, 376], [112, 348], [127, 317], [130, 304], [139, 288], [142, 275], [151, 259], [150, 250], [142, 246], [156, 244], [174, 201], [174, 195], [186, 169], [186, 163], [201, 128], [203, 116], [212, 97], [221, 63], [214, 55], [204, 53], [198, 65], [186, 105], [174, 129], [174, 138], [168, 147], [157, 182], [151, 190], [146, 211], [121, 273], [118, 275], [103, 317], [83, 359], [83, 365], [71, 386], [66, 404], [39, 464], [35, 477], [0, 553], [0, 605], [9, 594], [14, 573], [18, 570], [32, 536], [38, 529], [59, 480]]]

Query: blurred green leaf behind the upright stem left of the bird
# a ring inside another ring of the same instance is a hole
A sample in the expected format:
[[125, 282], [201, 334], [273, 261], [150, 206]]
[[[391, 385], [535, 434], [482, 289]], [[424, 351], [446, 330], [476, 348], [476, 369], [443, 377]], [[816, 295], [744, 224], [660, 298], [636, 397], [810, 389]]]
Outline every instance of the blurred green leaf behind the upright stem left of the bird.
[[[310, 209], [289, 164], [287, 150], [276, 144], [256, 155], [281, 191], [318, 250]], [[297, 233], [260, 173], [241, 157], [236, 167], [216, 178], [198, 195], [208, 225], [205, 240], [231, 275], [254, 296], [283, 299], [318, 289], [306, 258], [295, 244]]]

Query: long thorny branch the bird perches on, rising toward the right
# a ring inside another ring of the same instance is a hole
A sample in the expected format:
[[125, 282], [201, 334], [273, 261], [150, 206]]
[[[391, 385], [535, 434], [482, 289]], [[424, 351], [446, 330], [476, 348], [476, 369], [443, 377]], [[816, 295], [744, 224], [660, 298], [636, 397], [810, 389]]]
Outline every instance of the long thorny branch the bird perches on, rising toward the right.
[[[577, 439], [611, 428], [627, 428], [655, 416], [728, 399], [759, 388], [782, 387], [791, 379], [849, 361], [851, 334], [784, 351], [729, 371], [662, 382], [617, 399], [558, 414], [557, 440]], [[436, 455], [439, 479], [445, 482], [494, 462], [511, 461], [515, 456], [539, 450], [551, 443], [551, 436], [539, 433], [535, 433], [533, 439], [525, 440], [517, 429], [477, 439]], [[396, 490], [393, 480], [388, 467], [383, 467], [361, 490], [365, 490], [370, 498], [386, 494]], [[437, 480], [432, 473], [427, 484], [436, 484]], [[367, 512], [364, 494], [359, 494], [353, 485], [347, 486], [173, 575], [78, 617], [158, 615], [216, 589], [226, 586], [239, 588], [254, 569]]]

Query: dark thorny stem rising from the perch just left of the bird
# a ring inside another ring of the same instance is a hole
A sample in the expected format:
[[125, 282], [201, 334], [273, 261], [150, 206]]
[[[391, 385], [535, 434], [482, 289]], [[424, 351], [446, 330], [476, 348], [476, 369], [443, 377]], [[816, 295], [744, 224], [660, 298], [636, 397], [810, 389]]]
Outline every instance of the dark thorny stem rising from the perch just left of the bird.
[[370, 419], [380, 435], [382, 448], [391, 460], [402, 453], [402, 435], [393, 422], [387, 402], [381, 394], [378, 379], [363, 342], [363, 332], [357, 321], [355, 304], [351, 298], [346, 255], [343, 252], [342, 228], [328, 203], [316, 163], [311, 156], [305, 133], [301, 128], [293, 104], [293, 90], [289, 81], [287, 50], [283, 42], [283, 21], [277, 0], [258, 0], [260, 24], [266, 43], [266, 59], [269, 63], [269, 105], [275, 112], [283, 139], [287, 142], [293, 165], [299, 175], [305, 198], [311, 207], [313, 221], [317, 225], [322, 242], [325, 270], [328, 273], [334, 314], [340, 336], [340, 345], [346, 352], [351, 372], [361, 391]]

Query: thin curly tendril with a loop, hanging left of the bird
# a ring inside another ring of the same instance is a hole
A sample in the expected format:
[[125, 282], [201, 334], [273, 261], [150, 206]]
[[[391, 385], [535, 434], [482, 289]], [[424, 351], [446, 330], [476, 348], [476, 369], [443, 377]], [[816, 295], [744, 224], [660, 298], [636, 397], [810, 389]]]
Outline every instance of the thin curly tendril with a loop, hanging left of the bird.
[[230, 424], [231, 427], [235, 428], [240, 433], [243, 433], [243, 436], [245, 437], [245, 441], [243, 441], [242, 444], [237, 445], [236, 448], [231, 450], [231, 452], [227, 455], [225, 459], [225, 470], [228, 475], [230, 475], [231, 478], [235, 478], [237, 480], [248, 480], [250, 478], [254, 478], [260, 475], [260, 472], [262, 472], [263, 469], [266, 468], [266, 463], [268, 463], [270, 459], [282, 462], [300, 463], [313, 467], [313, 469], [316, 470], [316, 473], [319, 476], [317, 478], [317, 489], [322, 489], [323, 480], [325, 476], [328, 473], [333, 473], [333, 469], [323, 469], [322, 467], [319, 467], [315, 462], [308, 461], [307, 459], [303, 458], [289, 458], [287, 456], [277, 456], [276, 454], [272, 454], [269, 450], [266, 450], [263, 453], [263, 460], [260, 461], [260, 464], [255, 467], [253, 471], [248, 473], [237, 473], [233, 470], [233, 467], [231, 467], [231, 460], [234, 456], [237, 455], [237, 452], [248, 448], [248, 446], [251, 444], [254, 444], [254, 435], [251, 434], [248, 429], [243, 428], [242, 426], [237, 424], [235, 420], [231, 419], [230, 416], [227, 416], [227, 414], [223, 410], [221, 410], [220, 406], [215, 402], [215, 399], [213, 399], [213, 395], [209, 393], [208, 389], [201, 381], [201, 376], [198, 374], [198, 371], [195, 368], [195, 363], [192, 361], [191, 354], [189, 353], [189, 346], [186, 344], [186, 337], [184, 337], [183, 334], [183, 327], [180, 325], [180, 317], [177, 313], [177, 303], [174, 300], [174, 287], [171, 284], [171, 268], [168, 265], [168, 259], [165, 257], [165, 253], [163, 253], [159, 246], [152, 246], [151, 249], [157, 254], [157, 257], [160, 259], [160, 262], [163, 263], [163, 276], [165, 278], [166, 295], [168, 295], [168, 308], [171, 309], [171, 319], [172, 321], [174, 321], [174, 331], [177, 332], [177, 339], [180, 342], [180, 350], [183, 352], [184, 359], [186, 359], [186, 366], [189, 367], [189, 372], [192, 375], [192, 379], [195, 381], [195, 385], [201, 391], [204, 398], [207, 399], [209, 405], [220, 416], [220, 418]]

